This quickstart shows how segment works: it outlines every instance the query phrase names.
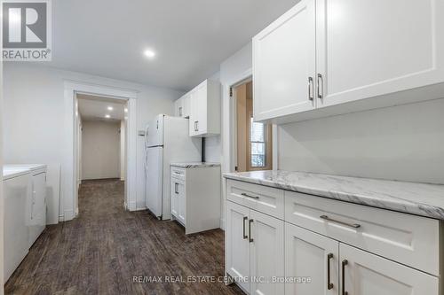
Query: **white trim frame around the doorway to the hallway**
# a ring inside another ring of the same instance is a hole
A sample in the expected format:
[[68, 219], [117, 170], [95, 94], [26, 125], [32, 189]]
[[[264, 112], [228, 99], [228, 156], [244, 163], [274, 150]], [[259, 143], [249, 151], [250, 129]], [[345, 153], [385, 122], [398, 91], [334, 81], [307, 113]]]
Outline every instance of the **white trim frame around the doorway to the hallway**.
[[75, 152], [77, 136], [75, 128], [78, 124], [76, 117], [77, 94], [107, 97], [112, 99], [126, 100], [128, 102], [127, 141], [126, 141], [126, 181], [125, 181], [125, 208], [130, 211], [136, 210], [137, 195], [137, 95], [138, 91], [132, 89], [121, 89], [111, 86], [91, 84], [87, 82], [65, 81], [65, 120], [67, 130], [65, 132], [65, 151], [63, 166], [67, 177], [62, 179], [63, 191], [61, 199], [61, 210], [59, 221], [70, 221], [78, 213], [78, 190], [77, 190], [77, 153]]

